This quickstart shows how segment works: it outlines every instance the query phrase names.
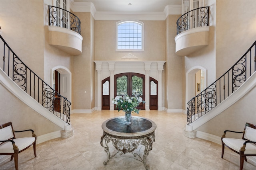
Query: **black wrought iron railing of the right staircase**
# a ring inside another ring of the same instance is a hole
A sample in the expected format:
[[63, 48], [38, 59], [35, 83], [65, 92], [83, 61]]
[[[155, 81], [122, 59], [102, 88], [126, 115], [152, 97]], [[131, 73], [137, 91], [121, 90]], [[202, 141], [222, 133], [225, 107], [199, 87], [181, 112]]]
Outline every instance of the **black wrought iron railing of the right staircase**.
[[188, 124], [199, 119], [234, 93], [256, 71], [256, 41], [214, 83], [188, 102]]

